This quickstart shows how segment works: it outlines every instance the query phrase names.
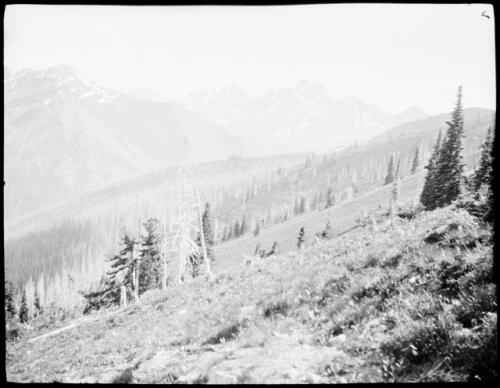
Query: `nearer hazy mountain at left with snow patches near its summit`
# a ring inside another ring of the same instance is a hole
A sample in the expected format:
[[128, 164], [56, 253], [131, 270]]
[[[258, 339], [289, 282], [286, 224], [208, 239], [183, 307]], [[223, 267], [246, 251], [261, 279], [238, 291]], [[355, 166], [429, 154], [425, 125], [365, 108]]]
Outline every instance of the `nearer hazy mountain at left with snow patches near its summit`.
[[5, 208], [12, 218], [182, 162], [241, 154], [183, 107], [90, 82], [69, 66], [4, 69]]

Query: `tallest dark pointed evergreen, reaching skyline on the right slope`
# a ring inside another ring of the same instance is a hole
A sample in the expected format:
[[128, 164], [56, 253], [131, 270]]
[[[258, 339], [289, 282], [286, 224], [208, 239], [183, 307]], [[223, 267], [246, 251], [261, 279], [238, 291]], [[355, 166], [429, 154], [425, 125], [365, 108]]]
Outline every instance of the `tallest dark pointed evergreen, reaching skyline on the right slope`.
[[465, 164], [463, 161], [464, 118], [462, 87], [458, 88], [457, 102], [446, 123], [448, 130], [439, 152], [436, 168], [436, 187], [439, 188], [435, 206], [443, 207], [458, 199], [461, 193]]

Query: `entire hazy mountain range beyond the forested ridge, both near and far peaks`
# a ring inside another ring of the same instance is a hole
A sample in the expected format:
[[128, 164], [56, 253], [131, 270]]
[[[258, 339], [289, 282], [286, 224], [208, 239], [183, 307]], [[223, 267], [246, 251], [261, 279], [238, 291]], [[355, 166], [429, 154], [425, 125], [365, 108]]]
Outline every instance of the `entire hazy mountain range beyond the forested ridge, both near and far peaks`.
[[236, 85], [164, 94], [102, 87], [65, 65], [4, 68], [5, 219], [184, 162], [340, 149], [430, 118], [306, 81], [262, 96]]

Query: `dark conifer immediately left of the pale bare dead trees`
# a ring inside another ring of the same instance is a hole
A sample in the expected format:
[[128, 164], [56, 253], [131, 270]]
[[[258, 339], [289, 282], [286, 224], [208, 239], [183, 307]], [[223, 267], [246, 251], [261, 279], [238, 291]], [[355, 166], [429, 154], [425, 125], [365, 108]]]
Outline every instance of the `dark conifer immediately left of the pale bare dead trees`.
[[159, 287], [162, 270], [160, 260], [160, 221], [150, 218], [143, 225], [146, 234], [141, 236], [139, 294]]

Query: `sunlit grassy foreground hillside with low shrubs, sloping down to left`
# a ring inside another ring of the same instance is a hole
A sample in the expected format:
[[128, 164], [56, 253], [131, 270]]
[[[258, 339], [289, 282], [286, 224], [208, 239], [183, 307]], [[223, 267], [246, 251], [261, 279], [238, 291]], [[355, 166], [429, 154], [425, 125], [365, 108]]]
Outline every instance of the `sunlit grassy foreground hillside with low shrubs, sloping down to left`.
[[[321, 224], [323, 224], [321, 222]], [[324, 226], [324, 225], [322, 225]], [[428, 236], [439, 230], [439, 239]], [[489, 230], [446, 208], [220, 271], [41, 340], [15, 382], [350, 383], [497, 378]], [[460, 241], [467, 245], [457, 246]], [[469, 244], [474, 241], [474, 244]], [[240, 253], [241, 254], [241, 253]], [[235, 257], [238, 261], [238, 257]], [[134, 369], [135, 368], [135, 369]]]

